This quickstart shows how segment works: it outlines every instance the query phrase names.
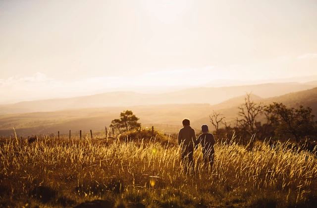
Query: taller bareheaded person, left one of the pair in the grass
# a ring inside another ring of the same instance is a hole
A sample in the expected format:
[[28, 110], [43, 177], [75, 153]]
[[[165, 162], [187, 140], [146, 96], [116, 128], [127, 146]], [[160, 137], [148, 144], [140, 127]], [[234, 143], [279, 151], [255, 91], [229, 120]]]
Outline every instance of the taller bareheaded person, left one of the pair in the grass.
[[196, 134], [195, 130], [190, 127], [189, 119], [185, 118], [183, 120], [184, 128], [180, 129], [178, 132], [178, 145], [182, 147], [182, 162], [185, 162], [185, 168], [187, 172], [187, 166], [190, 165], [194, 167], [193, 164], [193, 153], [194, 153], [194, 144], [197, 143], [196, 141]]

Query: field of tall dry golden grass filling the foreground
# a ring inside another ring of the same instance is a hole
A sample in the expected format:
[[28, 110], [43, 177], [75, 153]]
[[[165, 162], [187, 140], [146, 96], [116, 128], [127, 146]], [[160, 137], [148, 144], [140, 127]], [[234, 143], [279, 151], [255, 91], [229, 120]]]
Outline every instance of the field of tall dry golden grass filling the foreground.
[[203, 164], [199, 148], [195, 170], [186, 174], [180, 148], [171, 143], [3, 140], [0, 207], [71, 207], [93, 200], [131, 208], [317, 205], [316, 151], [219, 142], [213, 170]]

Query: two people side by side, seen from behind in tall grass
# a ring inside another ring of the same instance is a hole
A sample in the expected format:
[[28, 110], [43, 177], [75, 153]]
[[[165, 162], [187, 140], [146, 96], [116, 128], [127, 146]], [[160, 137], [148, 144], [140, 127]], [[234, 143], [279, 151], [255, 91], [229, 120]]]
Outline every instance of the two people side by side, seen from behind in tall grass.
[[190, 120], [185, 118], [183, 120], [183, 128], [179, 130], [178, 133], [178, 145], [182, 147], [181, 158], [183, 162], [187, 162], [189, 165], [193, 166], [193, 154], [194, 154], [194, 145], [197, 147], [199, 144], [203, 147], [203, 157], [204, 162], [213, 165], [213, 155], [215, 144], [214, 137], [209, 133], [207, 125], [202, 125], [202, 134], [196, 139], [195, 130], [190, 127]]

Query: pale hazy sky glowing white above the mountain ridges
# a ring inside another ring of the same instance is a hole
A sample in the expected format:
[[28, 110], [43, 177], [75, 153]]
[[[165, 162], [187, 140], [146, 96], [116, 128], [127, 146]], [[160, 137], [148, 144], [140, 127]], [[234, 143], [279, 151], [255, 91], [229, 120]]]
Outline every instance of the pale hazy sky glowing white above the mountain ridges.
[[0, 103], [311, 75], [316, 0], [0, 0]]

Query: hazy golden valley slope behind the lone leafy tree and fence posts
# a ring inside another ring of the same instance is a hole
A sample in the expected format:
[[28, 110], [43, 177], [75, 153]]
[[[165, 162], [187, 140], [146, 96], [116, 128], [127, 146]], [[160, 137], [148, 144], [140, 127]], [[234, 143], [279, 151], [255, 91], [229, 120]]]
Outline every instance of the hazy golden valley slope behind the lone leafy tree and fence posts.
[[140, 105], [130, 107], [105, 107], [0, 115], [0, 135], [11, 135], [13, 127], [18, 135], [50, 134], [69, 130], [78, 132], [104, 131], [111, 120], [123, 110], [132, 110], [140, 118], [142, 127], [155, 126], [158, 130], [175, 132], [184, 117], [198, 119], [211, 112], [210, 104]]

